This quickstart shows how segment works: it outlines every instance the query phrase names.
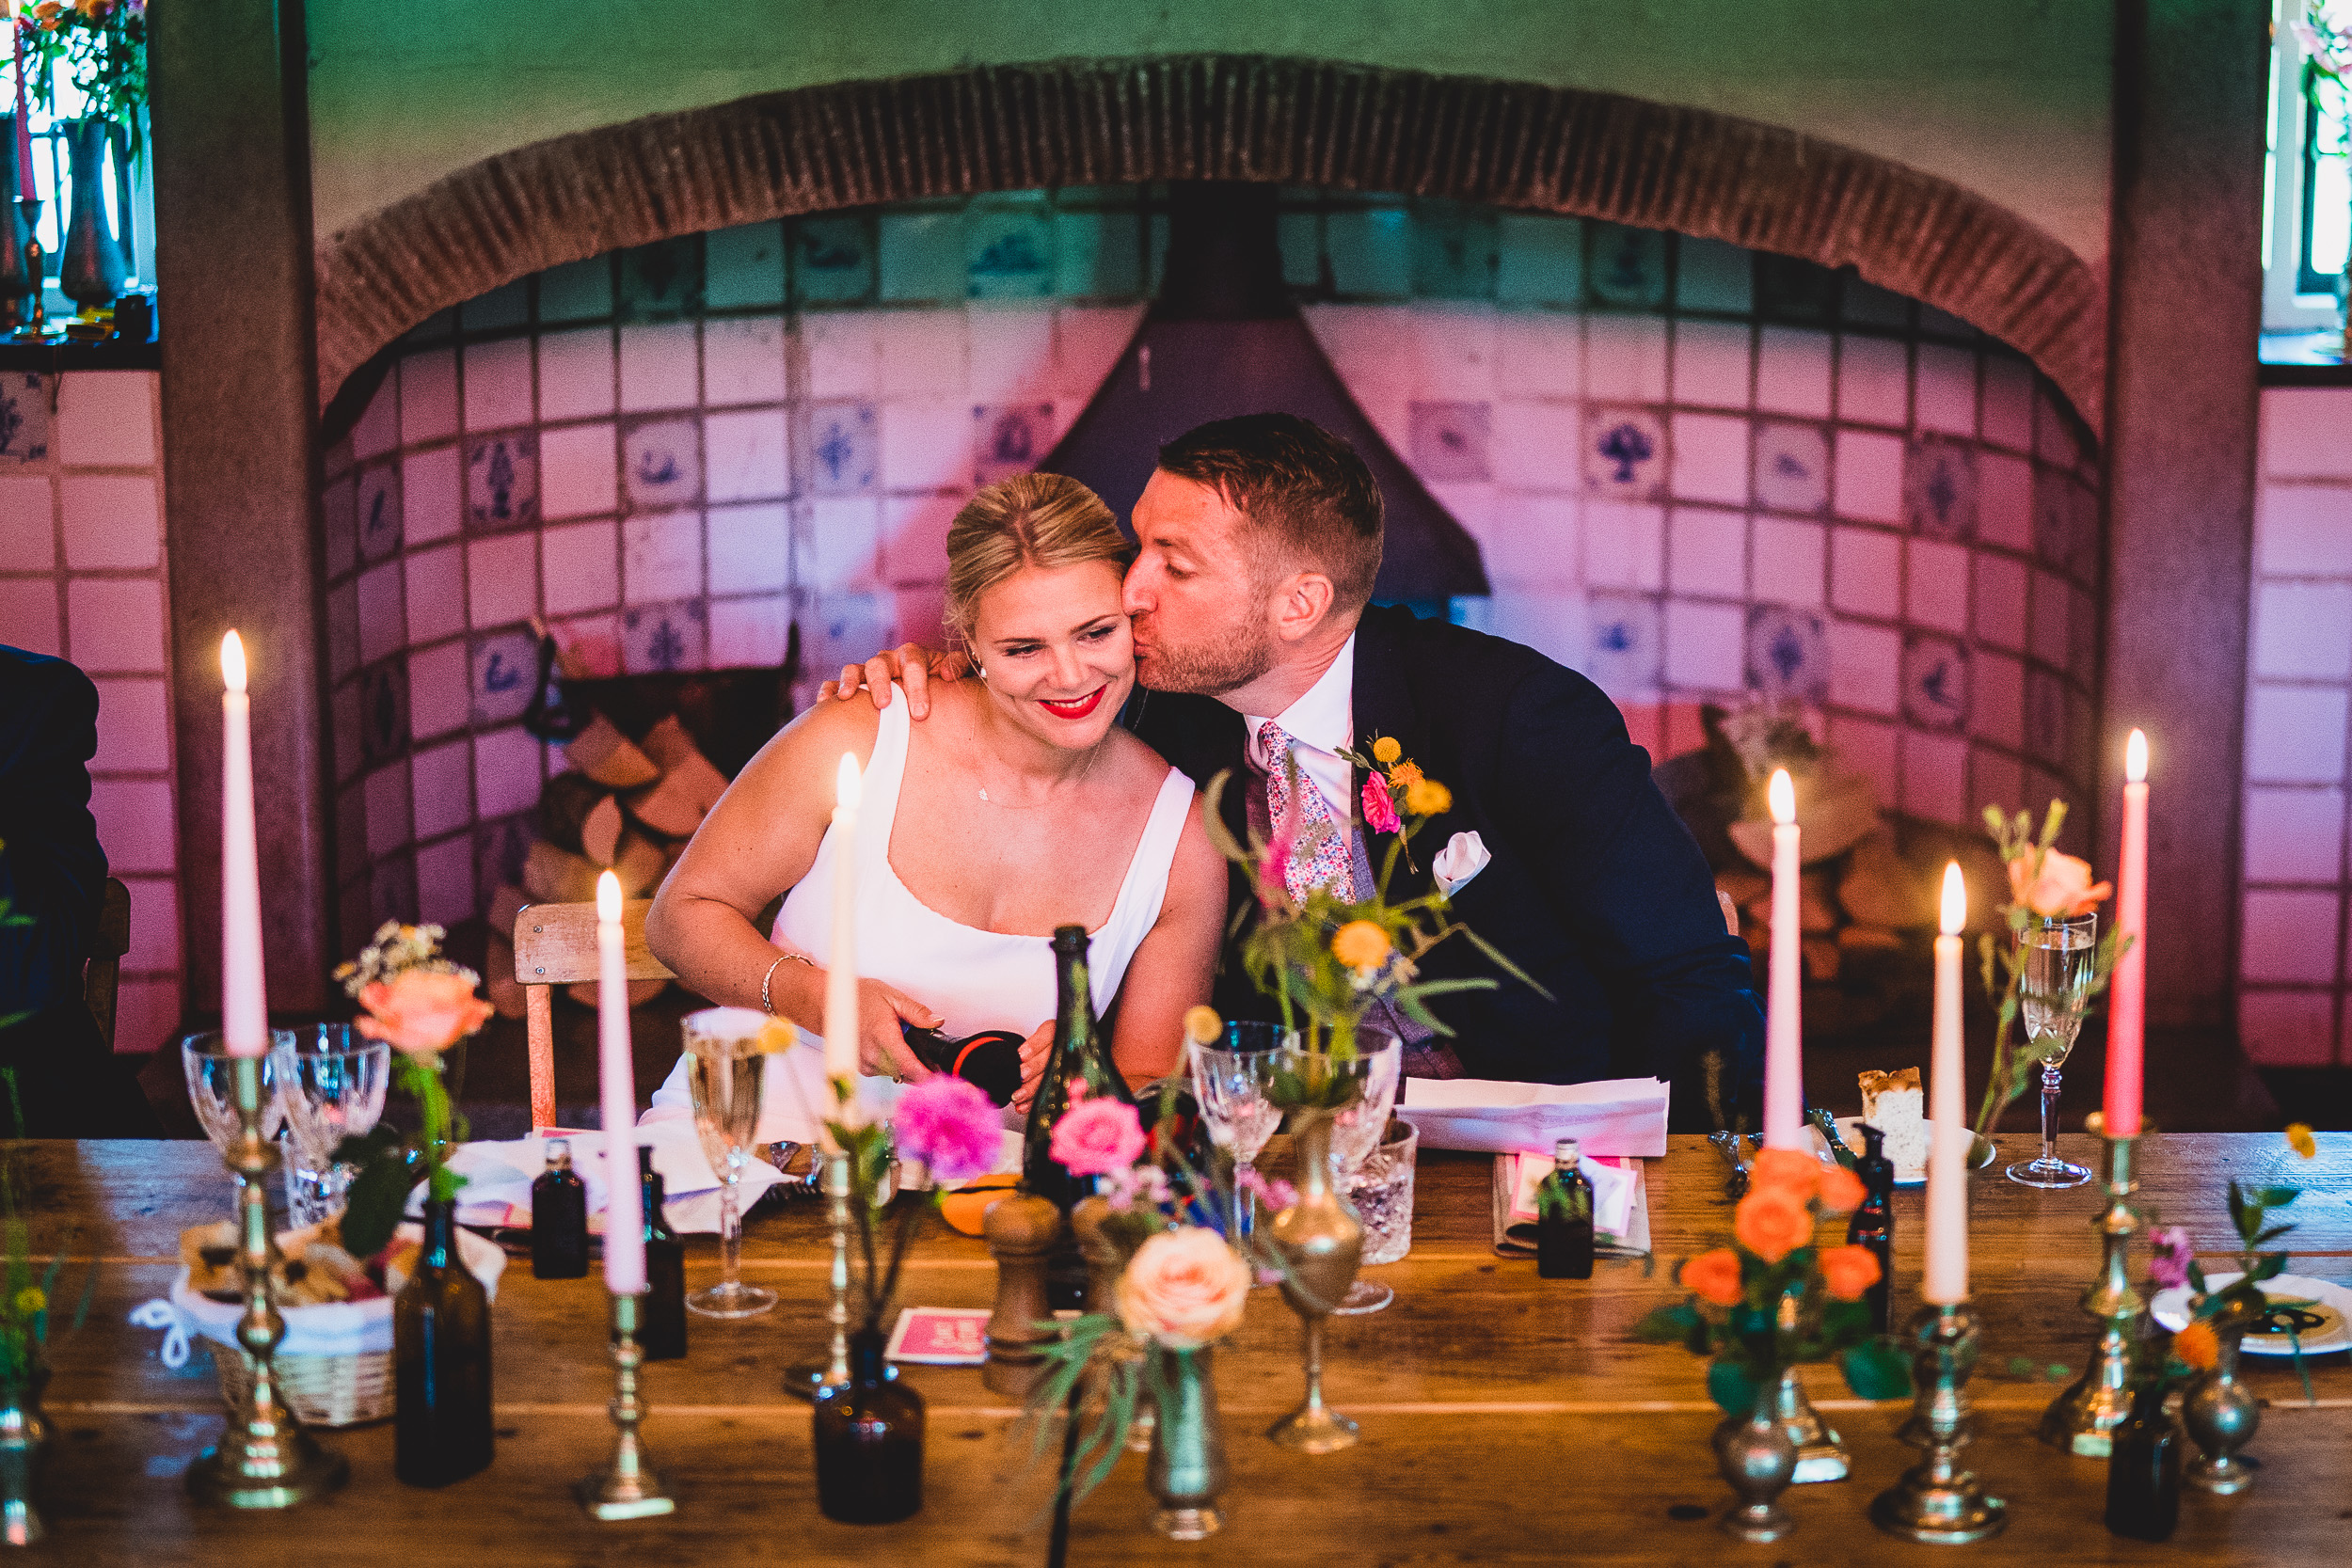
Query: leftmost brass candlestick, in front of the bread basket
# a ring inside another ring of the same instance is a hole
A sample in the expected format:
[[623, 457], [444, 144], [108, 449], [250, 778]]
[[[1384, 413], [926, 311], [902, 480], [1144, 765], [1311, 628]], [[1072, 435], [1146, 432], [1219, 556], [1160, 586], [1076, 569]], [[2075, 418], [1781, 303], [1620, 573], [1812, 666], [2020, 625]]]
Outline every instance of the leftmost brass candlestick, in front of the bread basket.
[[238, 1403], [219, 1446], [195, 1455], [188, 1490], [198, 1502], [233, 1509], [285, 1509], [339, 1488], [350, 1479], [350, 1465], [310, 1441], [270, 1373], [270, 1356], [287, 1335], [287, 1321], [270, 1298], [278, 1239], [270, 1237], [263, 1185], [278, 1150], [261, 1138], [261, 1058], [240, 1056], [230, 1072], [240, 1131], [221, 1164], [238, 1178], [238, 1218], [245, 1229], [245, 1316], [238, 1319], [238, 1342], [252, 1366], [252, 1392]]

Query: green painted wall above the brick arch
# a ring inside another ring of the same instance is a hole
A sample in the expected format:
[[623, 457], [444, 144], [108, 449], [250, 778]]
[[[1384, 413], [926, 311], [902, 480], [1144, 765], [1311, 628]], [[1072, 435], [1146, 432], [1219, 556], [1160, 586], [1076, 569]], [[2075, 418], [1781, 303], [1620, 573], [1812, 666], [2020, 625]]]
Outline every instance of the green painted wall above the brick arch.
[[[310, 0], [318, 233], [506, 148], [974, 61], [1296, 54], [1693, 103], [2107, 249], [2110, 0]], [[701, 21], [703, 26], [694, 26]]]

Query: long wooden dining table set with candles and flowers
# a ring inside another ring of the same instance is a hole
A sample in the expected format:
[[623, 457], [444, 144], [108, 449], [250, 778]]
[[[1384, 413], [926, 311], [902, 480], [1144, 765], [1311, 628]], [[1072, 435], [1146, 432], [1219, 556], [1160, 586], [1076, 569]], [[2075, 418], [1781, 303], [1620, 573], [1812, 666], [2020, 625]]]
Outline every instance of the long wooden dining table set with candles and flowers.
[[[1971, 1279], [1983, 1363], [1971, 1385], [1966, 1450], [2009, 1502], [2009, 1530], [1971, 1547], [1926, 1547], [1870, 1526], [1872, 1495], [1915, 1450], [1896, 1441], [1905, 1403], [1846, 1396], [1835, 1368], [1811, 1368], [1816, 1406], [1844, 1434], [1853, 1474], [1790, 1488], [1797, 1528], [1740, 1544], [1717, 1528], [1731, 1490], [1708, 1436], [1703, 1366], [1679, 1347], [1642, 1345], [1635, 1321], [1672, 1302], [1675, 1262], [1729, 1237], [1726, 1166], [1700, 1138], [1646, 1161], [1656, 1265], [1602, 1260], [1590, 1281], [1536, 1279], [1531, 1260], [1491, 1246], [1491, 1159], [1421, 1152], [1414, 1246], [1367, 1269], [1395, 1286], [1385, 1312], [1334, 1319], [1327, 1394], [1362, 1422], [1362, 1443], [1308, 1458], [1265, 1441], [1301, 1394], [1301, 1333], [1279, 1293], [1214, 1356], [1232, 1481], [1225, 1528], [1204, 1544], [1162, 1540], [1143, 1458], [1129, 1455], [1075, 1512], [1070, 1563], [2328, 1563], [2345, 1561], [2352, 1519], [2352, 1371], [2307, 1359], [2312, 1392], [2286, 1363], [2249, 1356], [2263, 1427], [2256, 1483], [2237, 1497], [2183, 1495], [2166, 1544], [2103, 1526], [2107, 1467], [2034, 1439], [2034, 1425], [2082, 1371], [2093, 1324], [2079, 1298], [2098, 1262], [2100, 1190], [2039, 1192], [2002, 1180], [2027, 1152], [2002, 1140], [1971, 1180]], [[2286, 1211], [2298, 1274], [2352, 1279], [2352, 1133], [2298, 1159], [2253, 1133], [2150, 1135], [2143, 1201], [2185, 1225], [2209, 1267], [2227, 1265], [2230, 1178], [2293, 1185]], [[2063, 1140], [2093, 1161], [2091, 1138]], [[127, 1314], [169, 1291], [179, 1232], [230, 1211], [230, 1180], [200, 1143], [7, 1145], [28, 1199], [33, 1251], [99, 1255], [89, 1321], [54, 1345], [42, 1474], [59, 1563], [1042, 1563], [1058, 1443], [990, 1394], [974, 1368], [906, 1368], [929, 1406], [924, 1507], [896, 1526], [840, 1526], [816, 1512], [809, 1406], [783, 1394], [783, 1368], [823, 1342], [830, 1260], [821, 1204], [757, 1213], [743, 1272], [781, 1295], [776, 1312], [694, 1319], [684, 1361], [652, 1363], [644, 1441], [677, 1512], [590, 1521], [572, 1483], [612, 1455], [607, 1298], [595, 1276], [543, 1281], [510, 1267], [494, 1309], [496, 1462], [456, 1486], [393, 1479], [390, 1422], [320, 1432], [350, 1460], [350, 1483], [306, 1507], [235, 1514], [191, 1502], [188, 1460], [223, 1427], [202, 1349], [181, 1368], [160, 1333]], [[1917, 1309], [1922, 1194], [1896, 1194], [1896, 1321]], [[2136, 1272], [2145, 1269], [2145, 1255]], [[717, 1274], [717, 1244], [689, 1241], [689, 1288]], [[936, 1215], [908, 1260], [903, 1305], [988, 1307], [995, 1265], [981, 1241]], [[1044, 1458], [1040, 1458], [1044, 1455]]]

